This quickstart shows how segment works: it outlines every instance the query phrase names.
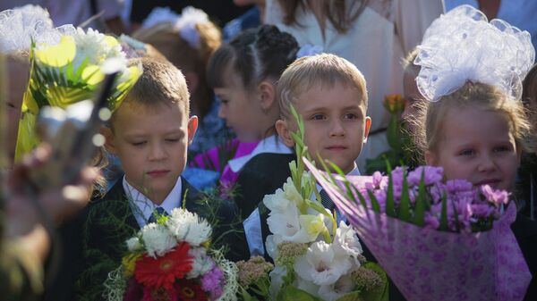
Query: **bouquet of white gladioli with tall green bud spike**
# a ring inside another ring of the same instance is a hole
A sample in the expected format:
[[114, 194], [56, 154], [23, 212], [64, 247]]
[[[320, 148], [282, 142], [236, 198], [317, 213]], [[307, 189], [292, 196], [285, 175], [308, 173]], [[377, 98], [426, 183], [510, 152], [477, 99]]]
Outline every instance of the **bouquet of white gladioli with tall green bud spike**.
[[[294, 133], [297, 157], [307, 154], [303, 122]], [[302, 162], [290, 163], [283, 189], [265, 196], [266, 248], [274, 259], [269, 296], [277, 300], [388, 300], [386, 274], [367, 263], [352, 226], [321, 204], [320, 192]], [[311, 199], [311, 196], [315, 196]], [[315, 199], [316, 198], [316, 199]]]

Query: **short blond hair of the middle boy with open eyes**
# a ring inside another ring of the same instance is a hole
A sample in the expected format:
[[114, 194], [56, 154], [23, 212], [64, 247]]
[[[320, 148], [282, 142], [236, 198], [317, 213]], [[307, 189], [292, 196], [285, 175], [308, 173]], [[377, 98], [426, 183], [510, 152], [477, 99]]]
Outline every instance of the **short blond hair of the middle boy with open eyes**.
[[367, 110], [367, 88], [362, 72], [342, 57], [317, 54], [294, 61], [278, 80], [277, 100], [281, 118], [286, 120], [291, 117], [290, 106], [303, 92], [315, 85], [333, 87], [336, 83], [345, 88], [357, 88], [360, 91], [360, 101]]

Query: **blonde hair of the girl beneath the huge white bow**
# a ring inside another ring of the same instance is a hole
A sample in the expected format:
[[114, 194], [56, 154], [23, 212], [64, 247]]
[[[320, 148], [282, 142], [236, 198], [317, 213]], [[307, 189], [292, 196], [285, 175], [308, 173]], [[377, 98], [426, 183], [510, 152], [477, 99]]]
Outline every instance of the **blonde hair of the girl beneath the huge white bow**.
[[529, 150], [528, 137], [531, 126], [524, 113], [522, 102], [507, 96], [495, 86], [470, 80], [452, 94], [440, 97], [437, 102], [422, 103], [422, 110], [417, 118], [418, 130], [414, 136], [416, 146], [419, 146], [423, 153], [437, 151], [447, 112], [453, 108], [464, 109], [471, 106], [506, 116], [517, 149]]

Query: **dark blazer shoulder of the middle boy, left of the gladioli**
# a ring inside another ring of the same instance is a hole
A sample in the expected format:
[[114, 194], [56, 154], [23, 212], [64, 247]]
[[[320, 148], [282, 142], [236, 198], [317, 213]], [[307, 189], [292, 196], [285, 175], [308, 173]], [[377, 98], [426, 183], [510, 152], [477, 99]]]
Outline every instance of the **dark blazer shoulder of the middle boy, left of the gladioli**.
[[296, 160], [294, 154], [263, 153], [255, 155], [243, 166], [237, 179], [235, 203], [243, 220], [263, 201], [265, 195], [273, 194], [291, 176], [289, 163]]

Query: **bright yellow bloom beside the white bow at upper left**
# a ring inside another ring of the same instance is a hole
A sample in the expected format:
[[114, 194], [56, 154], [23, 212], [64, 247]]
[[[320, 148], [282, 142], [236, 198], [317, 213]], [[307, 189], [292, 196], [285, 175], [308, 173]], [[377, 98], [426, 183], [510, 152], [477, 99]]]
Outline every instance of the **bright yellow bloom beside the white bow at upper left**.
[[38, 46], [35, 54], [39, 63], [44, 63], [51, 67], [63, 67], [71, 63], [76, 54], [74, 38], [64, 35], [60, 39], [60, 43], [55, 46]]

